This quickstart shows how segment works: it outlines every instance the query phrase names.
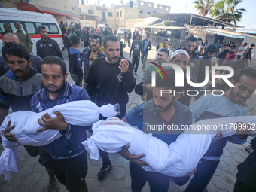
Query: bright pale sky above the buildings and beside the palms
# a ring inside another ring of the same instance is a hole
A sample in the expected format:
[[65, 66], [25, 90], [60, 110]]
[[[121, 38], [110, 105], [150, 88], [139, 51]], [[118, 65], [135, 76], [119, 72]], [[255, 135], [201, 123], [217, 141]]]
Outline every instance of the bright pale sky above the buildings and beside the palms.
[[[110, 7], [112, 3], [115, 5], [121, 5], [121, 0], [99, 0], [99, 4], [105, 4], [107, 7]], [[145, 0], [146, 2], [153, 2], [154, 5], [157, 5], [157, 0]], [[98, 0], [88, 0], [90, 4], [98, 4]], [[127, 3], [129, 0], [123, 0], [123, 3]], [[177, 3], [178, 2], [178, 3]], [[194, 9], [194, 0], [161, 0], [160, 4], [171, 6], [171, 13], [191, 13], [197, 14], [197, 11]], [[245, 8], [246, 12], [242, 14], [242, 21], [239, 22], [238, 26], [244, 26], [244, 29], [254, 29], [256, 31], [256, 11], [255, 11], [255, 0], [243, 0], [238, 8]], [[243, 29], [240, 29], [243, 30]]]

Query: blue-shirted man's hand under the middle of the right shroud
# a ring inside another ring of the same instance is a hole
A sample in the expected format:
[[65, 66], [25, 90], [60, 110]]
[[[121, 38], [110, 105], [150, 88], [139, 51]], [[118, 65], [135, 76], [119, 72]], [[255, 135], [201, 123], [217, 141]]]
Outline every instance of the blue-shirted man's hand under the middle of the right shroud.
[[126, 158], [126, 160], [130, 160], [130, 162], [136, 163], [139, 166], [149, 166], [148, 163], [142, 160], [139, 160], [142, 157], [145, 157], [145, 154], [139, 154], [139, 155], [130, 154], [130, 152], [128, 151], [129, 147], [130, 147], [129, 144], [123, 146], [122, 150], [119, 151], [119, 154], [122, 155], [124, 158]]

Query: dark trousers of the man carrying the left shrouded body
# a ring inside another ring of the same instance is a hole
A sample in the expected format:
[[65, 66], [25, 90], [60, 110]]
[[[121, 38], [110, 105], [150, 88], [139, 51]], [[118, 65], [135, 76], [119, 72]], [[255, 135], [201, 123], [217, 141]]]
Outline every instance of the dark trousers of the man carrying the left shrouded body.
[[85, 176], [87, 175], [87, 151], [78, 156], [54, 160], [50, 157], [50, 163], [58, 181], [66, 186], [66, 189], [74, 192], [87, 192]]

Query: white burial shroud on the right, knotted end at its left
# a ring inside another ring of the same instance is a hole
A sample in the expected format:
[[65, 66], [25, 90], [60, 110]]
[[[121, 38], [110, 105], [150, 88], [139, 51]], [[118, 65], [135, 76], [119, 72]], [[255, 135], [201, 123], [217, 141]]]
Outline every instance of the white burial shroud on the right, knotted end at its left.
[[[141, 160], [147, 162], [149, 166], [144, 166], [143, 169], [173, 177], [181, 177], [196, 169], [218, 130], [222, 131], [224, 137], [236, 134], [234, 124], [237, 122], [251, 123], [253, 129], [251, 133], [256, 133], [256, 118], [253, 116], [201, 120], [195, 123], [194, 126], [212, 125], [209, 126], [209, 130], [198, 132], [185, 130], [175, 142], [168, 146], [160, 139], [148, 136], [122, 120], [112, 118], [94, 123], [93, 136], [83, 144], [90, 153], [90, 157], [98, 160], [98, 148], [108, 153], [116, 153], [124, 145], [130, 143], [129, 151], [131, 154], [145, 154], [145, 157]], [[233, 126], [230, 123], [233, 123]], [[227, 129], [225, 125], [227, 125]], [[215, 130], [210, 127], [214, 127]]]

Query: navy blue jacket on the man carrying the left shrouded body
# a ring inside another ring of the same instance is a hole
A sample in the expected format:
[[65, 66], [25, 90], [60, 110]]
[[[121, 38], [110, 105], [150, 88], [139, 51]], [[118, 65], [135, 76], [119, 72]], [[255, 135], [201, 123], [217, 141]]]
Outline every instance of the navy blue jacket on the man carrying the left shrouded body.
[[[49, 99], [47, 96], [47, 90], [44, 87], [35, 93], [31, 99], [30, 105], [32, 111], [38, 113], [48, 108], [53, 108], [55, 105], [89, 99], [87, 91], [84, 90], [84, 88], [66, 82], [65, 87], [60, 91], [54, 101]], [[59, 133], [62, 134], [59, 139], [56, 139], [54, 142], [44, 146], [47, 154], [54, 159], [66, 159], [81, 154], [85, 150], [84, 145], [82, 145], [81, 142], [87, 139], [86, 130], [87, 128], [84, 126], [69, 124], [68, 130], [59, 131]]]

